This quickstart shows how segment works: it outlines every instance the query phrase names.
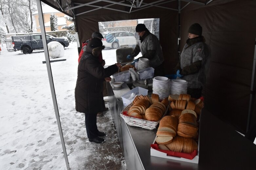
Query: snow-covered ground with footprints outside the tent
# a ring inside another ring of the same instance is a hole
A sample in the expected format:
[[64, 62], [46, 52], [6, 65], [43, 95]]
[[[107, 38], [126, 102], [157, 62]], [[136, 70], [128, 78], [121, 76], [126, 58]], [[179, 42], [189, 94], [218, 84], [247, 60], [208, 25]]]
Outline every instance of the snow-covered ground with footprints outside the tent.
[[[43, 50], [31, 54], [8, 52], [5, 44], [1, 49], [0, 169], [66, 169], [47, 67], [42, 63], [45, 61]], [[111, 51], [113, 55], [109, 54]], [[104, 53], [108, 53], [107, 65], [116, 62], [115, 50], [104, 50], [103, 57]], [[73, 170], [85, 169], [92, 150], [77, 149], [91, 143], [85, 131], [84, 114], [75, 111], [76, 43], [65, 48], [64, 57], [60, 59], [66, 61], [52, 62], [51, 70], [69, 165]], [[106, 159], [118, 161], [113, 155]]]

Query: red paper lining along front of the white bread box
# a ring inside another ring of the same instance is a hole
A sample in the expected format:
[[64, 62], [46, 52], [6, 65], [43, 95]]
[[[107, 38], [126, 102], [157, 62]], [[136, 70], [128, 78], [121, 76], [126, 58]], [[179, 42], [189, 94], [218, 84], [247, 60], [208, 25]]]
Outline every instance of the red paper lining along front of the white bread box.
[[151, 144], [150, 146], [155, 150], [166, 153], [168, 156], [176, 156], [176, 157], [192, 160], [197, 155], [197, 150], [194, 150], [192, 153], [182, 153], [182, 152], [174, 152], [170, 150], [159, 149], [158, 144]]

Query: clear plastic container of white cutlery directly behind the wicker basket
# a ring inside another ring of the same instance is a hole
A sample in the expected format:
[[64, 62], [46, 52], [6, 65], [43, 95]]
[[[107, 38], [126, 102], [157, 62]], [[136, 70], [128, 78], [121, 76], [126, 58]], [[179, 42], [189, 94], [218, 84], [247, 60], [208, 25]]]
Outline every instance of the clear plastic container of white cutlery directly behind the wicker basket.
[[134, 89], [122, 95], [124, 106], [128, 106], [137, 95], [148, 95], [148, 89], [135, 87]]

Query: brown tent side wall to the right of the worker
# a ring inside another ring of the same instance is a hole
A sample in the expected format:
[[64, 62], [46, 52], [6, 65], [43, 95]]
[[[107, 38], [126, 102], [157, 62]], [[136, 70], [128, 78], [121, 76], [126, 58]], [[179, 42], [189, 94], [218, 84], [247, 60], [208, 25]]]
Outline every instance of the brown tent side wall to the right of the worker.
[[[256, 38], [256, 1], [215, 1], [181, 12], [181, 46], [192, 23], [200, 23], [211, 48], [206, 106], [245, 133]], [[254, 104], [255, 106], [255, 104]], [[255, 107], [252, 120], [255, 122]]]

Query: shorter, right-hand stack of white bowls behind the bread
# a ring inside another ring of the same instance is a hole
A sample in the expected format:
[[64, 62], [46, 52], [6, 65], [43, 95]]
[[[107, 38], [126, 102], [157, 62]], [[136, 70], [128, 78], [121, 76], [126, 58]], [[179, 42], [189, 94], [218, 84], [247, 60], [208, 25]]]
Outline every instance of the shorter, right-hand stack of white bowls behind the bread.
[[172, 79], [170, 94], [187, 94], [187, 81], [182, 79]]

